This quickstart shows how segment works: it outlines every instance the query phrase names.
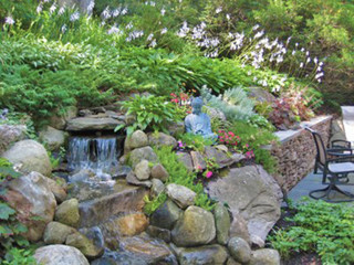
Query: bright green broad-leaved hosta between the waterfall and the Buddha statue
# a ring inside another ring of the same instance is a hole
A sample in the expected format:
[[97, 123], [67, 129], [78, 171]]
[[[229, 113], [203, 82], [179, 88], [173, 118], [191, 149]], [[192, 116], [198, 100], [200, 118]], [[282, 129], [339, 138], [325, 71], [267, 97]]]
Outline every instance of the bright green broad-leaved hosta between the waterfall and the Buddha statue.
[[[166, 131], [166, 126], [174, 121], [179, 121], [176, 106], [166, 102], [162, 96], [139, 96], [136, 95], [129, 102], [123, 102], [123, 107], [127, 115], [133, 115], [135, 121], [126, 128], [126, 134], [131, 135], [137, 129], [153, 129], [155, 131]], [[117, 126], [115, 130], [123, 126]]]

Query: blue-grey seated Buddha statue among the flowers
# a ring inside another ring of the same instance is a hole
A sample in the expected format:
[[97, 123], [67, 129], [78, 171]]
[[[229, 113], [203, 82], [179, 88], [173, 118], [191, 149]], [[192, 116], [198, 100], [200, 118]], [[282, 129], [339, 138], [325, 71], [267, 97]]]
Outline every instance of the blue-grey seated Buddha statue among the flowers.
[[202, 99], [200, 97], [194, 98], [191, 114], [185, 119], [186, 131], [216, 140], [218, 136], [211, 131], [210, 118], [206, 113], [201, 113], [201, 107]]

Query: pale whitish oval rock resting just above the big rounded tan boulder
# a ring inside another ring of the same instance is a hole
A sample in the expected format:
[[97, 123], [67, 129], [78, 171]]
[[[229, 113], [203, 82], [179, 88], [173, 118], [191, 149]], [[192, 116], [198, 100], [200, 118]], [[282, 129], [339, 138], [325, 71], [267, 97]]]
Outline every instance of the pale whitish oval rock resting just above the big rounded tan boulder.
[[195, 198], [197, 195], [192, 190], [175, 183], [168, 184], [166, 187], [166, 193], [181, 209], [194, 205]]

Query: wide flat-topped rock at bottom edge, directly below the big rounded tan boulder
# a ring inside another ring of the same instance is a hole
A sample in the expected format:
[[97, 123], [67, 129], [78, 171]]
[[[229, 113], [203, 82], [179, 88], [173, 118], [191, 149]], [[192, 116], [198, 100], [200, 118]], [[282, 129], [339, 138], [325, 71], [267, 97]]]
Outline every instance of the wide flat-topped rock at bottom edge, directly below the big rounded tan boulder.
[[178, 262], [180, 265], [222, 265], [228, 256], [226, 248], [220, 245], [188, 247], [178, 251]]

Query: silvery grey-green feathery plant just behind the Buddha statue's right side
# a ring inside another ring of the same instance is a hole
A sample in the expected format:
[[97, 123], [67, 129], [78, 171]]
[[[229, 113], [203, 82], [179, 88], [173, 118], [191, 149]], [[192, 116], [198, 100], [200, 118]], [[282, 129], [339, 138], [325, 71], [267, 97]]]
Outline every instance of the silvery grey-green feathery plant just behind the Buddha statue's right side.
[[254, 115], [254, 103], [241, 87], [227, 89], [220, 97], [211, 95], [205, 87], [201, 96], [207, 105], [220, 109], [230, 121], [247, 120]]

